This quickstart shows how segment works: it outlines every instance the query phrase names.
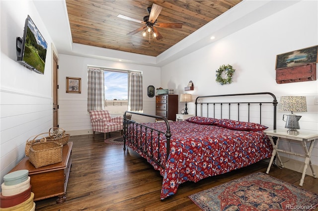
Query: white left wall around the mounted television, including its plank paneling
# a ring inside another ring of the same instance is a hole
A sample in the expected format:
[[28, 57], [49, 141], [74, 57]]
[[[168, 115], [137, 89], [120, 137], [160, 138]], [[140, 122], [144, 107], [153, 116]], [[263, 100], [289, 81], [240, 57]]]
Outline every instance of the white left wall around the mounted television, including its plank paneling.
[[[16, 62], [27, 15], [48, 43], [44, 75]], [[0, 178], [24, 158], [25, 143], [53, 125], [51, 37], [32, 1], [0, 1]]]

